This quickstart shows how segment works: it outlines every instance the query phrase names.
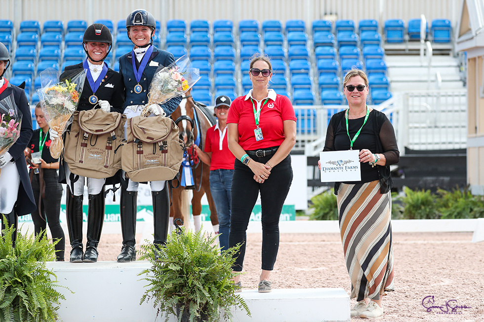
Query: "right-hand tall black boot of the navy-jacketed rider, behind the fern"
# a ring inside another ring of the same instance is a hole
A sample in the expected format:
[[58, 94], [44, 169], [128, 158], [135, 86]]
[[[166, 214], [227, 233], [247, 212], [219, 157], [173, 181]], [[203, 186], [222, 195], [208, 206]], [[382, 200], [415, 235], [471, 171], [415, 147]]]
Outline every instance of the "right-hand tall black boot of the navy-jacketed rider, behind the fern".
[[[168, 236], [168, 225], [170, 223], [170, 192], [168, 182], [165, 182], [164, 189], [161, 191], [152, 191], [153, 197], [153, 224], [155, 226], [155, 240], [153, 244], [159, 248], [166, 244]], [[159, 254], [155, 254], [159, 258]]]

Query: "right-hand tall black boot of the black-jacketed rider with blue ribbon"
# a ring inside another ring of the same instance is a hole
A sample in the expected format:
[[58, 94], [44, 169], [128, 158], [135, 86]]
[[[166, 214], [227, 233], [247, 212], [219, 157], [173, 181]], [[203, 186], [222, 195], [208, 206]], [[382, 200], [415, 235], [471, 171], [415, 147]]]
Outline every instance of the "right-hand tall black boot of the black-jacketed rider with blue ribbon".
[[87, 244], [84, 253], [84, 263], [97, 262], [97, 245], [101, 238], [104, 223], [104, 187], [97, 195], [89, 195], [89, 208], [87, 210]]

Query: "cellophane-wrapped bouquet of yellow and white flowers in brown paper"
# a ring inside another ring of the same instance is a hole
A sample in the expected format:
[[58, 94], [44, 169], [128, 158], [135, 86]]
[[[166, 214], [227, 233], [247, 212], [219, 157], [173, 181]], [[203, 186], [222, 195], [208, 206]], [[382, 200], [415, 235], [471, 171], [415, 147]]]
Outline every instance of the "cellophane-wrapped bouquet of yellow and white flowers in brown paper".
[[[64, 149], [62, 134], [72, 123], [73, 114], [78, 107], [81, 92], [84, 88], [85, 76], [86, 70], [82, 70], [58, 83], [53, 83], [50, 77], [50, 80], [46, 82], [47, 85], [37, 90], [47, 124], [49, 128], [59, 134], [58, 138], [52, 139], [49, 147], [50, 155], [54, 159], [60, 157]], [[40, 75], [40, 78], [42, 82], [42, 75]]]

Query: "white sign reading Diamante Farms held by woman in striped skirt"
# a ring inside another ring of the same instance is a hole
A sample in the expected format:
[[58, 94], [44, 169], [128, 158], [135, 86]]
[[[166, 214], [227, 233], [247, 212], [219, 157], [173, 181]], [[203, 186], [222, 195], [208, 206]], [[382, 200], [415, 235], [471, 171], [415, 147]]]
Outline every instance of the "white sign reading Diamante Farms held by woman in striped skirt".
[[360, 150], [320, 152], [321, 182], [361, 181]]

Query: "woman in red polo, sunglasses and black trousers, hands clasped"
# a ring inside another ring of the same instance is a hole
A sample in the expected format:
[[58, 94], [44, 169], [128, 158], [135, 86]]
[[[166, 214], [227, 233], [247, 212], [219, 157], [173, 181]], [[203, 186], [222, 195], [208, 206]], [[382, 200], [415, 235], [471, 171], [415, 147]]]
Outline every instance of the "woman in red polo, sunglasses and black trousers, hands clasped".
[[[227, 117], [229, 148], [234, 153], [229, 247], [242, 244], [232, 269], [242, 271], [245, 231], [257, 196], [261, 197], [262, 273], [259, 292], [269, 281], [279, 249], [279, 217], [292, 182], [289, 152], [296, 138], [296, 116], [289, 99], [268, 89], [271, 61], [257, 55], [250, 62], [252, 89], [232, 103]], [[234, 282], [241, 286], [240, 277]]]

